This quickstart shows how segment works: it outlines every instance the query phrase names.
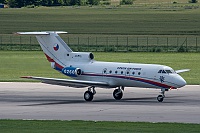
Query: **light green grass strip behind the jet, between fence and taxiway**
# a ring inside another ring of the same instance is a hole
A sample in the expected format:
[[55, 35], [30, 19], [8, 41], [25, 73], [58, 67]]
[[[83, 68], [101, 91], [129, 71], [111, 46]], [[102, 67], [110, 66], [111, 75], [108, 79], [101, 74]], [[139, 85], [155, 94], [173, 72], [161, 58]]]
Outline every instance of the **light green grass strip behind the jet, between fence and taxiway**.
[[[175, 70], [189, 68], [181, 74], [188, 84], [200, 84], [199, 53], [94, 53], [95, 60], [163, 64]], [[66, 78], [53, 70], [41, 51], [1, 51], [0, 81], [30, 81], [21, 76]]]

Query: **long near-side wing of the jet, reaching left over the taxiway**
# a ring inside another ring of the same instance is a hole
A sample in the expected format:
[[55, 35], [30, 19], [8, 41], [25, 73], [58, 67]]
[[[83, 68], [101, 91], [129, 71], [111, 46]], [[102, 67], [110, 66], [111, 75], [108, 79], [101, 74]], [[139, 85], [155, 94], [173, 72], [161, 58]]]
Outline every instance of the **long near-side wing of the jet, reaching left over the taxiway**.
[[46, 84], [61, 85], [69, 87], [88, 87], [88, 86], [98, 86], [103, 88], [109, 88], [109, 84], [106, 82], [96, 82], [96, 81], [86, 81], [86, 80], [70, 80], [70, 79], [56, 79], [56, 78], [45, 78], [45, 77], [34, 77], [26, 76], [21, 78], [40, 80]]

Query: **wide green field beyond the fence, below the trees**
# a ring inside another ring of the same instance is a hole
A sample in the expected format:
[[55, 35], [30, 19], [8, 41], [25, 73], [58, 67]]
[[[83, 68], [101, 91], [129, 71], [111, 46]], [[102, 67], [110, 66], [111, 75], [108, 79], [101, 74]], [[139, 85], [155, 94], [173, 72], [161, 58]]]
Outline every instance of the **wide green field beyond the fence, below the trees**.
[[198, 6], [184, 3], [2, 9], [0, 34], [64, 30], [70, 34], [199, 35]]

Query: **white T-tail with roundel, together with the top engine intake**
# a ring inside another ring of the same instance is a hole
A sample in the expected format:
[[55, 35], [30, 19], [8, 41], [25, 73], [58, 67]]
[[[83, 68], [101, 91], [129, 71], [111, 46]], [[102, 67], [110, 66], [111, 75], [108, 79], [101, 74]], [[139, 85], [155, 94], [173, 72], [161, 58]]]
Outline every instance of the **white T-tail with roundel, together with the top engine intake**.
[[73, 52], [58, 35], [66, 33], [64, 31], [17, 32], [19, 35], [35, 35], [51, 67], [58, 71], [69, 67], [71, 62], [88, 62], [94, 58], [92, 53]]

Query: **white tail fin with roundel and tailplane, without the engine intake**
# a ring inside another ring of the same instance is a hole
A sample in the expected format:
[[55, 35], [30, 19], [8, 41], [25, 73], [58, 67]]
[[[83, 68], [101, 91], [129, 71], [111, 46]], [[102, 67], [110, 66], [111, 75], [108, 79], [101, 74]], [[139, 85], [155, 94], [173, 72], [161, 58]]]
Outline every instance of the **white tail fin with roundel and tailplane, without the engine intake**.
[[60, 38], [58, 34], [63, 31], [45, 31], [45, 32], [17, 32], [19, 35], [36, 35], [47, 60], [55, 63], [60, 68], [65, 66], [65, 57], [67, 53], [73, 52], [70, 47]]

